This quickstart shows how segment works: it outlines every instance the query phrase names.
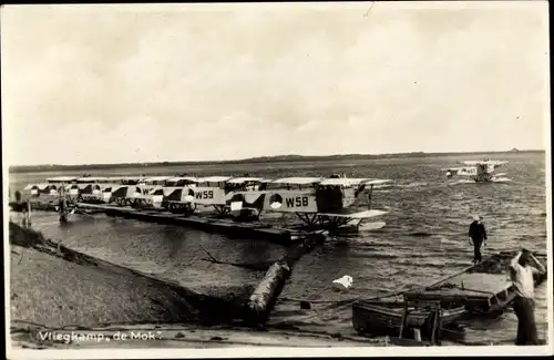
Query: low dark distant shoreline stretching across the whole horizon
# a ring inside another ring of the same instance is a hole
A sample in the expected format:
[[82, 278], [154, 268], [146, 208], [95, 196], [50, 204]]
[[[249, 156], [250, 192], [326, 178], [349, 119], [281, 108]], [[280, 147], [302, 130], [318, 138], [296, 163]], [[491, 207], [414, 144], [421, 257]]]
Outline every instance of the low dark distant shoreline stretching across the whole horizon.
[[156, 163], [119, 163], [119, 164], [80, 164], [80, 165], [18, 165], [10, 166], [9, 173], [40, 173], [40, 172], [58, 172], [58, 171], [95, 171], [105, 168], [132, 168], [132, 167], [176, 167], [187, 165], [232, 165], [232, 164], [259, 164], [259, 163], [284, 163], [284, 162], [310, 162], [310, 161], [341, 161], [341, 160], [381, 160], [381, 158], [411, 158], [411, 157], [440, 157], [455, 155], [496, 155], [496, 154], [530, 154], [545, 153], [544, 150], [522, 150], [522, 151], [503, 151], [503, 152], [460, 152], [460, 153], [398, 153], [398, 154], [347, 154], [347, 155], [276, 155], [276, 156], [259, 156], [244, 160], [229, 161], [201, 161], [201, 162], [156, 162]]

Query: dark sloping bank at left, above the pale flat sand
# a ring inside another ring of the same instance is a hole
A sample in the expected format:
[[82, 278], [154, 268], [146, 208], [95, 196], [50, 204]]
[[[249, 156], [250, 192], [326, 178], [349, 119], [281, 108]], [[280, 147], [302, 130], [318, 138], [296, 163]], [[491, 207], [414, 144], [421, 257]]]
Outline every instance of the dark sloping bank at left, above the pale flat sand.
[[[252, 289], [204, 295], [76, 253], [10, 223], [12, 321], [48, 327], [228, 321]], [[217, 292], [217, 291], [216, 291]]]

